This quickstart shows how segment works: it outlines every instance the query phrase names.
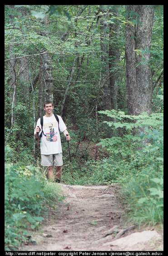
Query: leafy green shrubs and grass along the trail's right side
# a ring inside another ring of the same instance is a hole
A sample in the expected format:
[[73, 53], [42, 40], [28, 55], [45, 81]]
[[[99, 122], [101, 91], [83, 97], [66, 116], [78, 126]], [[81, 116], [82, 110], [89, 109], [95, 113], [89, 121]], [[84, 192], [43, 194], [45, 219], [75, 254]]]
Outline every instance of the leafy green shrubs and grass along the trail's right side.
[[[106, 122], [113, 129], [124, 128], [122, 136], [102, 139], [99, 145], [111, 155], [99, 163], [94, 182], [122, 184], [127, 219], [139, 224], [163, 223], [163, 114], [142, 113], [133, 117], [124, 112], [103, 111], [115, 118]], [[128, 120], [136, 118], [135, 123]], [[133, 135], [133, 129], [139, 130]]]

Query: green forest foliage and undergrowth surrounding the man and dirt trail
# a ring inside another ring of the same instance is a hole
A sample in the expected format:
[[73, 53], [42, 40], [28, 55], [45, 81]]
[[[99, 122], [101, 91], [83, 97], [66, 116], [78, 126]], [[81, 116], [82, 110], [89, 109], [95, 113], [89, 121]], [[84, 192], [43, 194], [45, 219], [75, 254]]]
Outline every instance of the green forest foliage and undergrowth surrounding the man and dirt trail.
[[[163, 223], [163, 5], [153, 8], [151, 47], [134, 50], [135, 68], [147, 65], [152, 73], [152, 110], [137, 115], [128, 113], [125, 42], [128, 28], [142, 28], [140, 12], [5, 5], [6, 250], [16, 250], [52, 201], [63, 200], [36, 169], [33, 133], [44, 99], [53, 100], [71, 135], [74, 184], [119, 183], [129, 221]], [[72, 184], [64, 138], [62, 146], [62, 182]]]

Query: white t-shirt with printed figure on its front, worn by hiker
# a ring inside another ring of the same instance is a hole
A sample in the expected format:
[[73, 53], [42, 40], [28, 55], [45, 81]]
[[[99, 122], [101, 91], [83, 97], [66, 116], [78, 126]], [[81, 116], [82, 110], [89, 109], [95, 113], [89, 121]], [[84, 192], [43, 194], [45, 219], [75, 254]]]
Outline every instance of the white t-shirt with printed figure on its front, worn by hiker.
[[[56, 118], [54, 117], [54, 114], [47, 118], [43, 117], [43, 132], [41, 137], [41, 143], [40, 143], [40, 150], [41, 154], [44, 155], [50, 155], [50, 154], [59, 154], [62, 153], [62, 146], [61, 146], [61, 138], [59, 134], [59, 130], [61, 132], [64, 132], [66, 130], [66, 125], [64, 124], [64, 121], [60, 116], [59, 118], [59, 127], [58, 122]], [[41, 124], [40, 124], [40, 118], [37, 121], [36, 127], [40, 127], [40, 133], [42, 132]]]

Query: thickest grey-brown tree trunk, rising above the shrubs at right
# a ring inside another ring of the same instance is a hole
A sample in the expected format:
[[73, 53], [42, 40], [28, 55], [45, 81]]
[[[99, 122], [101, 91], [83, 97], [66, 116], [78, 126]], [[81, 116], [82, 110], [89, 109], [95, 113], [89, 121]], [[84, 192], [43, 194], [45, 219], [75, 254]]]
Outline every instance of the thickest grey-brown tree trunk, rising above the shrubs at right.
[[127, 25], [125, 30], [128, 114], [150, 113], [152, 111], [152, 72], [148, 61], [154, 9], [151, 5], [126, 5], [126, 11], [128, 20], [136, 23], [134, 26]]

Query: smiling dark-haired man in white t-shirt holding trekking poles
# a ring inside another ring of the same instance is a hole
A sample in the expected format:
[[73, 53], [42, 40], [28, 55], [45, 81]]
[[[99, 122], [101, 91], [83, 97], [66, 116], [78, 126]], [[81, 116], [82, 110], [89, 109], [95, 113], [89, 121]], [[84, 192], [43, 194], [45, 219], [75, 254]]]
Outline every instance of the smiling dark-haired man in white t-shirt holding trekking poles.
[[66, 136], [68, 134], [66, 125], [60, 116], [53, 114], [53, 109], [52, 101], [44, 102], [45, 115], [37, 121], [35, 138], [38, 138], [39, 133], [41, 137], [41, 165], [48, 166], [48, 178], [54, 181], [53, 167], [56, 166], [55, 178], [57, 182], [60, 182], [63, 160], [59, 130], [64, 133], [67, 140], [70, 140], [70, 136]]

